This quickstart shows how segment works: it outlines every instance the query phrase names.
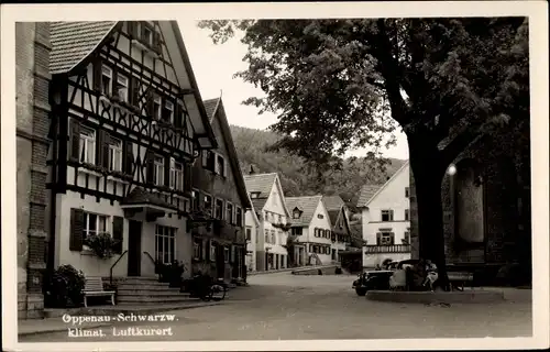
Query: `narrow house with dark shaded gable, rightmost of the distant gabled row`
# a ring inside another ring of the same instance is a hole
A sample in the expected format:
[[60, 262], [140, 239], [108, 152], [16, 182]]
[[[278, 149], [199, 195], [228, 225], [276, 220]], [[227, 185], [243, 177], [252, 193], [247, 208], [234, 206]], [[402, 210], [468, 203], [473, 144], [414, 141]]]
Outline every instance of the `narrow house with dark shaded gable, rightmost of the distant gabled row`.
[[330, 223], [332, 224], [332, 249], [331, 257], [340, 262], [339, 252], [343, 252], [351, 244], [351, 228], [348, 217], [349, 210], [340, 196], [323, 196], [322, 202], [329, 213]]

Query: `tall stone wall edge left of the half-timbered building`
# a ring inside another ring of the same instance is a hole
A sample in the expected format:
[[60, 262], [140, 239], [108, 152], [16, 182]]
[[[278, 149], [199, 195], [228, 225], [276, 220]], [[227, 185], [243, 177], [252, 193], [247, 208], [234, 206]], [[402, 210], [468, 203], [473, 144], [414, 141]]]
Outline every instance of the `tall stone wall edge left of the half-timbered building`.
[[50, 141], [50, 24], [15, 25], [18, 164], [18, 312], [42, 316], [45, 270], [46, 155]]

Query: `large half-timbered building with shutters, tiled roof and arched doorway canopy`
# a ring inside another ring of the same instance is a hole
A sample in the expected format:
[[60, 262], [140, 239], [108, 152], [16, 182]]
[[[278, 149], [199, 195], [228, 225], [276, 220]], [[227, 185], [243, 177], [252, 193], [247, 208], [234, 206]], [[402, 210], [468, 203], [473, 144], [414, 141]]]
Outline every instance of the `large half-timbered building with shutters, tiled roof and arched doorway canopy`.
[[[48, 262], [102, 276], [190, 267], [191, 165], [217, 141], [177, 23], [55, 22], [52, 46]], [[92, 255], [97, 233], [112, 257]]]

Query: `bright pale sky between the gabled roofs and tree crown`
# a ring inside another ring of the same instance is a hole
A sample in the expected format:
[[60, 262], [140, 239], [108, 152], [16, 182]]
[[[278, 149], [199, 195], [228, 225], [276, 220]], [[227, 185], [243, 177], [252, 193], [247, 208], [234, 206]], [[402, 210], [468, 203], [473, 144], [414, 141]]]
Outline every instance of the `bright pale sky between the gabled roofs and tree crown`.
[[[221, 95], [230, 124], [265, 130], [277, 121], [275, 114], [258, 114], [257, 108], [241, 103], [249, 97], [263, 95], [260, 88], [244, 82], [241, 78], [233, 78], [233, 74], [248, 67], [242, 61], [246, 54], [246, 45], [238, 38], [216, 45], [208, 36], [209, 31], [199, 29], [197, 22], [178, 21], [178, 24], [202, 99]], [[407, 160], [407, 138], [402, 132], [395, 133], [397, 144], [382, 153], [386, 157]], [[349, 152], [346, 156], [362, 156], [365, 153], [365, 150], [356, 150]]]

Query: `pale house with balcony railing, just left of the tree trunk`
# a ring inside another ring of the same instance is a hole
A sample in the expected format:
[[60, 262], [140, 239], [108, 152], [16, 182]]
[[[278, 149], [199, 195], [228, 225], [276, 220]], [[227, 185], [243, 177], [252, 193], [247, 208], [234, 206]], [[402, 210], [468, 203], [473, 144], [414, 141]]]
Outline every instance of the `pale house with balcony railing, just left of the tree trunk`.
[[409, 172], [407, 161], [384, 185], [361, 188], [365, 268], [410, 258]]

